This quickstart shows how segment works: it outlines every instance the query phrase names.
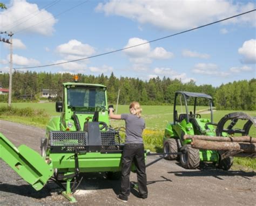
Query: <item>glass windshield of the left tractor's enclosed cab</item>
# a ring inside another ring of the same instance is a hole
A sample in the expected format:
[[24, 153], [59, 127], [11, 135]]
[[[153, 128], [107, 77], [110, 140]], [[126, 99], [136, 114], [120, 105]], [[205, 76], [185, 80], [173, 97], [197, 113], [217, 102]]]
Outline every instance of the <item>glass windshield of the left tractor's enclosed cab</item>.
[[105, 88], [67, 87], [68, 106], [76, 110], [86, 109], [92, 111], [98, 106], [105, 108]]

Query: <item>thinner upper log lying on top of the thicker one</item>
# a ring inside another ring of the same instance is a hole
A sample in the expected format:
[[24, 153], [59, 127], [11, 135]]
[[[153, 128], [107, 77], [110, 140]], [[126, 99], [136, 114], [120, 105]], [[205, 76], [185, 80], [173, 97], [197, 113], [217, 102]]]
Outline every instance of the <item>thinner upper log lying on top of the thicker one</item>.
[[256, 143], [256, 138], [250, 136], [240, 136], [240, 137], [212, 137], [204, 135], [184, 135], [184, 139], [201, 139], [210, 141], [239, 141], [246, 143]]

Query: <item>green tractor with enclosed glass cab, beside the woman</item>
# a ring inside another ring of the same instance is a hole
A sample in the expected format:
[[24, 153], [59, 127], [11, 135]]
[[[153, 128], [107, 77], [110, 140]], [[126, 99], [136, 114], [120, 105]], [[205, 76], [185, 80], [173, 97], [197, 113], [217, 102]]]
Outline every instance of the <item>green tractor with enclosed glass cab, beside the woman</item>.
[[107, 108], [102, 84], [64, 83], [62, 102], [56, 102], [61, 116], [53, 117], [46, 126], [42, 157], [51, 162], [58, 183], [67, 181], [63, 195], [71, 201], [80, 172], [105, 172], [109, 179], [120, 178], [123, 143], [119, 131], [109, 126]]

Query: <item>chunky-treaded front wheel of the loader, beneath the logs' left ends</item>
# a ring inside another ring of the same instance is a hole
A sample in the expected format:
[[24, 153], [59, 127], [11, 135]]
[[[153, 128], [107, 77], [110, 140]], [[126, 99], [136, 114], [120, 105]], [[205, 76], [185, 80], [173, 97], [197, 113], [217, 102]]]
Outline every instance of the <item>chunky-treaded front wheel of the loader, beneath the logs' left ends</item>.
[[200, 164], [199, 150], [191, 145], [184, 146], [184, 153], [180, 155], [180, 164], [185, 169], [196, 169]]

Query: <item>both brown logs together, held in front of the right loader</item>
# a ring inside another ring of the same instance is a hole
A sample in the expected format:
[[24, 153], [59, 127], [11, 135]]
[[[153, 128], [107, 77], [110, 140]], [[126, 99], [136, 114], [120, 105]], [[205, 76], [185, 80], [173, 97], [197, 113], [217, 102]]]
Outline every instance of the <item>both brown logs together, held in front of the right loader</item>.
[[184, 135], [184, 139], [192, 139], [191, 146], [203, 150], [256, 152], [256, 138], [241, 137], [211, 137], [203, 135]]

